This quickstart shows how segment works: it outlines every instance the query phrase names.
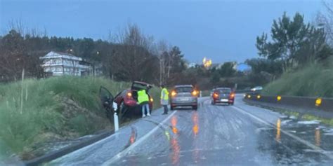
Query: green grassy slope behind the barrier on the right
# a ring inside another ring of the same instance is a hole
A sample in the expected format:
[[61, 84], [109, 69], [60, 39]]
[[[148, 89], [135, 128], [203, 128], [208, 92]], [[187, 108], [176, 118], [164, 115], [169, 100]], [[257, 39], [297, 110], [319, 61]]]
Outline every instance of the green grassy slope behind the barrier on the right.
[[269, 83], [263, 95], [333, 97], [333, 65], [311, 64]]

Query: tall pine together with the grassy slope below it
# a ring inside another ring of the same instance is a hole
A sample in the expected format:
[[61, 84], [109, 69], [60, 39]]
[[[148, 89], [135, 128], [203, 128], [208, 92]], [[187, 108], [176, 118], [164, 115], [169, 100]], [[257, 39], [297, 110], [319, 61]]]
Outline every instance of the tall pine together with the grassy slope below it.
[[[256, 38], [260, 58], [247, 60], [252, 74], [266, 74], [264, 95], [333, 97], [332, 8], [305, 22], [296, 13], [273, 20], [270, 33]], [[270, 36], [271, 39], [268, 38]]]

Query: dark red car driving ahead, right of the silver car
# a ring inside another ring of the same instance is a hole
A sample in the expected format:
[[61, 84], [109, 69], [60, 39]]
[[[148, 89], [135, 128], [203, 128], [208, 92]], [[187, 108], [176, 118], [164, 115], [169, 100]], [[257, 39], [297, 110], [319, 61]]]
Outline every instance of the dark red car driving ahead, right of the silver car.
[[235, 92], [231, 88], [216, 88], [211, 95], [211, 104], [226, 103], [233, 105]]

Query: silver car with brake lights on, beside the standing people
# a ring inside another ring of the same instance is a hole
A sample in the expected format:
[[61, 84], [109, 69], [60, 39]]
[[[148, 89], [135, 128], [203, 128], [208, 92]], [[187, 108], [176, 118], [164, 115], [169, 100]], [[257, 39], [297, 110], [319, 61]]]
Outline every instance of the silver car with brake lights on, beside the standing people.
[[197, 110], [198, 93], [192, 85], [176, 85], [171, 90], [171, 110], [177, 106], [191, 106]]

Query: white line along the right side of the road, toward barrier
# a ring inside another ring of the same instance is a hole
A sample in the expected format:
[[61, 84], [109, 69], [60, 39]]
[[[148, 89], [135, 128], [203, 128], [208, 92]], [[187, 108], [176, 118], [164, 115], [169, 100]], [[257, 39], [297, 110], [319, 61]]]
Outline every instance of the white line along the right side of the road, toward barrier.
[[[254, 116], [252, 113], [248, 113], [247, 111], [244, 111], [243, 109], [240, 109], [240, 108], [238, 108], [236, 106], [232, 106], [232, 107], [233, 107], [233, 109], [236, 109], [237, 111], [240, 111], [241, 113], [246, 114], [247, 116], [250, 116], [251, 118], [254, 118], [255, 120], [258, 120], [259, 122], [261, 122], [261, 123], [263, 123], [265, 125], [268, 125], [270, 127], [274, 127], [275, 129], [277, 129], [277, 127], [274, 124], [268, 123], [266, 120], [263, 120], [263, 119], [261, 119], [261, 118], [259, 118], [257, 116]], [[302, 144], [308, 146], [309, 148], [312, 148], [313, 150], [318, 151], [319, 153], [322, 153], [323, 155], [326, 155], [329, 159], [333, 159], [333, 155], [331, 153], [329, 153], [329, 151], [325, 151], [324, 149], [322, 149], [322, 148], [320, 148], [318, 146], [315, 146], [314, 144], [311, 144], [311, 142], [306, 141], [304, 139], [301, 139], [300, 137], [298, 137], [298, 136], [296, 136], [296, 135], [294, 135], [294, 134], [292, 134], [290, 132], [287, 132], [287, 131], [282, 130], [282, 129], [280, 129], [280, 131], [283, 134], [286, 134], [289, 137], [292, 137], [296, 141], [299, 141]]]

